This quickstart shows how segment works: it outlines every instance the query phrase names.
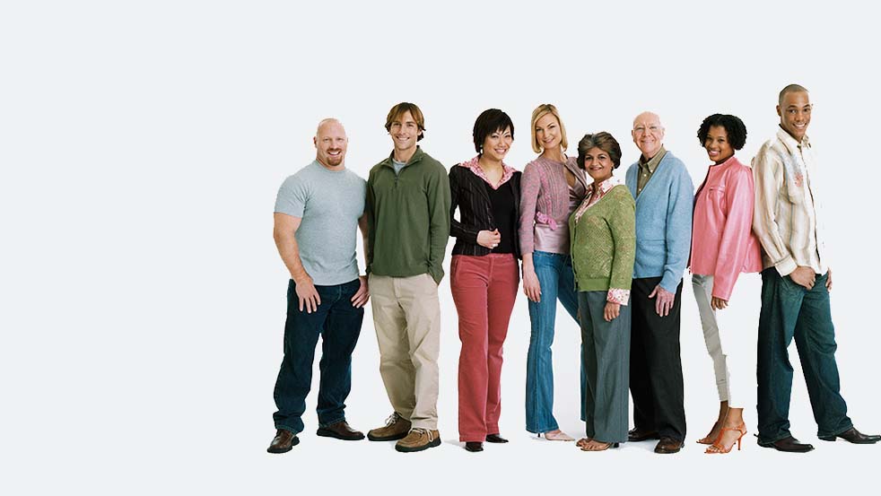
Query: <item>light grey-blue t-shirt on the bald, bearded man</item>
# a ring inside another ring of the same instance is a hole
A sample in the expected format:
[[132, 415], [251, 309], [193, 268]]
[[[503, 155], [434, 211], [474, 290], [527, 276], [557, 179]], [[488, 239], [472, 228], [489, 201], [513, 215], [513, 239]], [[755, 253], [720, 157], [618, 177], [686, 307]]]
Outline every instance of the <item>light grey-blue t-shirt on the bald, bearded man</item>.
[[366, 195], [367, 181], [351, 170], [327, 170], [318, 161], [284, 179], [275, 212], [302, 219], [295, 238], [313, 283], [332, 286], [358, 277], [356, 239]]

